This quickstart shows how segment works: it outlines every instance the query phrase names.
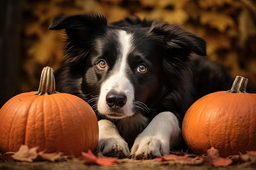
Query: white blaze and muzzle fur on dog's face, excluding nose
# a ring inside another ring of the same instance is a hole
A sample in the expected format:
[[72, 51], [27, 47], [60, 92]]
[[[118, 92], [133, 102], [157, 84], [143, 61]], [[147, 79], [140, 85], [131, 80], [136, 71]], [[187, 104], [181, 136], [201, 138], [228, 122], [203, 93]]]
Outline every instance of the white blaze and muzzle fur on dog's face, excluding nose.
[[[121, 119], [124, 117], [132, 116], [133, 101], [134, 101], [134, 88], [126, 75], [126, 70], [129, 69], [127, 57], [129, 51], [132, 50], [132, 35], [124, 30], [118, 32], [119, 39], [119, 56], [110, 73], [110, 77], [101, 86], [101, 91], [98, 100], [98, 111], [113, 119]], [[126, 104], [117, 110], [114, 110], [106, 103], [106, 95], [109, 91], [115, 90], [118, 93], [126, 95]]]

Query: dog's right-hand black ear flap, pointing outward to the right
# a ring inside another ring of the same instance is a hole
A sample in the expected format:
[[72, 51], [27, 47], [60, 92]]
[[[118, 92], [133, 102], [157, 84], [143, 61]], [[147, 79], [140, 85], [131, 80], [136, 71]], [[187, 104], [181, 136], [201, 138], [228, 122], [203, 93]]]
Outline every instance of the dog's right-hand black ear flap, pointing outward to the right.
[[202, 38], [175, 24], [153, 22], [149, 33], [157, 35], [158, 39], [166, 42], [166, 48], [170, 50], [176, 49], [187, 53], [193, 52], [201, 56], [207, 55], [206, 42]]

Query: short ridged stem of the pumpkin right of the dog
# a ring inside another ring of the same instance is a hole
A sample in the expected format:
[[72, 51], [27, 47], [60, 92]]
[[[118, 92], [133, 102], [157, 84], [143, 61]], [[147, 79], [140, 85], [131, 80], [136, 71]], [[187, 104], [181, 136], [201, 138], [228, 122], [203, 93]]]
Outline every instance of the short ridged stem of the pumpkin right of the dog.
[[248, 79], [242, 76], [237, 75], [232, 87], [229, 91], [226, 91], [226, 93], [247, 93], [246, 87], [248, 84]]

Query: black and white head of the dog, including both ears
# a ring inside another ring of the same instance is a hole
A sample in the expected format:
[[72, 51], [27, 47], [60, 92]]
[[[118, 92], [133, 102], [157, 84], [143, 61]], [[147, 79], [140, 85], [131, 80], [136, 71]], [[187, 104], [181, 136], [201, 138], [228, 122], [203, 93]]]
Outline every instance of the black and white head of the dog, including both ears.
[[67, 34], [62, 67], [76, 83], [64, 92], [112, 119], [150, 112], [167, 93], [183, 94], [190, 53], [206, 55], [204, 40], [167, 23], [108, 25], [102, 15], [78, 14], [57, 16], [49, 29]]

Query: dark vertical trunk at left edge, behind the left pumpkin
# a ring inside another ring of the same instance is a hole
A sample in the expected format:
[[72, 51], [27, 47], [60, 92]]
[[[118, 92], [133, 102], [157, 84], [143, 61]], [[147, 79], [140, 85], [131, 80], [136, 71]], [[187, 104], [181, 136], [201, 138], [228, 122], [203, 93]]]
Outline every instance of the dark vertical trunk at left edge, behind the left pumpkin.
[[0, 107], [17, 94], [20, 0], [0, 0]]

